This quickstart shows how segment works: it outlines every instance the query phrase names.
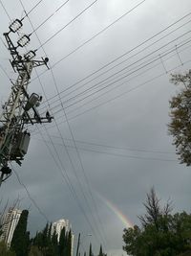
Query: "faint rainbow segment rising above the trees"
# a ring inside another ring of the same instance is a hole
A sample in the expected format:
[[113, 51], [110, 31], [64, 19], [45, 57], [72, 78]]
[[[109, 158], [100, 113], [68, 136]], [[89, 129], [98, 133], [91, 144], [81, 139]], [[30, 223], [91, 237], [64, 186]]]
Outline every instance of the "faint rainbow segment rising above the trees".
[[118, 220], [120, 220], [125, 225], [125, 227], [134, 227], [134, 224], [127, 219], [127, 217], [117, 208], [116, 205], [114, 205], [108, 199], [103, 198], [99, 194], [98, 194], [98, 196], [107, 205], [107, 207], [116, 214]]

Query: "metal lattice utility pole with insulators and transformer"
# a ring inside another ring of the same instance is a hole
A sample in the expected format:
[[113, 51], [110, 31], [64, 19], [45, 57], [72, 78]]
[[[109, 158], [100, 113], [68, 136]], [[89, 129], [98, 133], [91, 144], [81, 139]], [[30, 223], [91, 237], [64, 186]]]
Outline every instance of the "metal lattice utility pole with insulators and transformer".
[[15, 83], [12, 83], [11, 94], [0, 114], [0, 186], [9, 176], [11, 168], [9, 163], [15, 161], [21, 166], [21, 161], [28, 151], [31, 134], [26, 125], [51, 123], [53, 117], [47, 111], [42, 117], [37, 107], [42, 101], [42, 96], [28, 93], [32, 69], [47, 65], [49, 58], [34, 59], [36, 51], [20, 54], [19, 49], [30, 42], [31, 35], [22, 35], [16, 45], [11, 40], [11, 35], [18, 32], [23, 26], [23, 19], [15, 19], [9, 26], [9, 32], [4, 33], [11, 54], [11, 66], [18, 74]]

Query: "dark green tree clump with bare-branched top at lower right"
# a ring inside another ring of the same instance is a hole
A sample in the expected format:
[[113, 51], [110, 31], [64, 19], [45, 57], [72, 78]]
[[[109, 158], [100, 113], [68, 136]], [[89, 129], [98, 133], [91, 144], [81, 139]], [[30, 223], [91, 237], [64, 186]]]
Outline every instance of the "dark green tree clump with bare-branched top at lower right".
[[123, 249], [127, 254], [178, 256], [191, 251], [191, 215], [185, 212], [172, 215], [169, 202], [162, 208], [154, 189], [144, 205], [146, 214], [139, 217], [141, 226], [124, 229]]

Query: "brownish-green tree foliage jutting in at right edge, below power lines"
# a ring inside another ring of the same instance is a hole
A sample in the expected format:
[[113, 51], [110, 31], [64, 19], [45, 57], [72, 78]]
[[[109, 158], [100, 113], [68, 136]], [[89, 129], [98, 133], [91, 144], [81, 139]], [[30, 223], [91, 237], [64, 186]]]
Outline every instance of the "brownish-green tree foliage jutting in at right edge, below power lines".
[[180, 163], [191, 165], [191, 71], [184, 75], [172, 75], [174, 84], [183, 87], [170, 101], [171, 122], [168, 125], [169, 134], [173, 136], [173, 144]]

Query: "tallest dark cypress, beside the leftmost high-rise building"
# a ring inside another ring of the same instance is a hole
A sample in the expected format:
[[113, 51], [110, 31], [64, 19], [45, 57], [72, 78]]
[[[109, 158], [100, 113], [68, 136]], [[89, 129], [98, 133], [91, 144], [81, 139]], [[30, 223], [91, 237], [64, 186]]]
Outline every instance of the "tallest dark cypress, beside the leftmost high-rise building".
[[23, 210], [20, 219], [14, 230], [11, 240], [11, 250], [15, 251], [16, 256], [28, 255], [29, 232], [27, 232], [28, 210]]

